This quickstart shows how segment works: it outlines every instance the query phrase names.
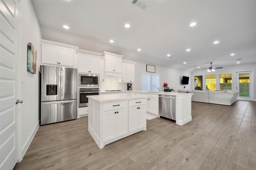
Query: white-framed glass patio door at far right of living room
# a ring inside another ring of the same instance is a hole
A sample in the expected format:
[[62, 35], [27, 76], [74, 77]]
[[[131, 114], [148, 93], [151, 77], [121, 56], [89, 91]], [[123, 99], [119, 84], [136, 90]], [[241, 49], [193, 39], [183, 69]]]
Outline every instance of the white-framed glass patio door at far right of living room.
[[239, 100], [254, 99], [253, 71], [236, 72], [236, 89], [239, 90]]

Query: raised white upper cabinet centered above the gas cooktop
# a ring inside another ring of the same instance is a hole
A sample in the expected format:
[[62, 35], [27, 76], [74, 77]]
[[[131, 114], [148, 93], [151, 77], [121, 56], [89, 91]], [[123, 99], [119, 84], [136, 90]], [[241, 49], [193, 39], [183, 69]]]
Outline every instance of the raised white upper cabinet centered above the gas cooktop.
[[104, 51], [105, 57], [105, 74], [112, 76], [122, 76], [122, 57], [123, 55], [109, 53]]

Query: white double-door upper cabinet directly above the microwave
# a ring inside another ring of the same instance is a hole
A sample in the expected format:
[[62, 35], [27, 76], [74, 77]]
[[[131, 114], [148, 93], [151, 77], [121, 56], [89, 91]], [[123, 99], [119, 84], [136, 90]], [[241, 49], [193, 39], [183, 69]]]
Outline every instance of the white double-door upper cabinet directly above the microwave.
[[76, 49], [78, 53], [78, 72], [100, 74], [101, 53]]

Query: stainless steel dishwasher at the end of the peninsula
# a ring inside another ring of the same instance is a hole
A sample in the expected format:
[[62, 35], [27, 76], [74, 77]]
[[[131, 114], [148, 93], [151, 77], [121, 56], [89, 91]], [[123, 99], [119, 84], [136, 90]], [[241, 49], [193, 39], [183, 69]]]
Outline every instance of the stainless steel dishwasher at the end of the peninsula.
[[176, 122], [176, 96], [159, 95], [159, 115]]

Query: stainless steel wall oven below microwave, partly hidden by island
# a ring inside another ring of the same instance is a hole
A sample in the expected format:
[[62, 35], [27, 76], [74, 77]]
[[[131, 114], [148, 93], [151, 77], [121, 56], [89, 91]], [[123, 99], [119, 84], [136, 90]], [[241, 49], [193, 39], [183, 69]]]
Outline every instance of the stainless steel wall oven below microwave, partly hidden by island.
[[80, 88], [78, 96], [78, 107], [88, 106], [88, 98], [90, 95], [99, 95], [99, 88]]

